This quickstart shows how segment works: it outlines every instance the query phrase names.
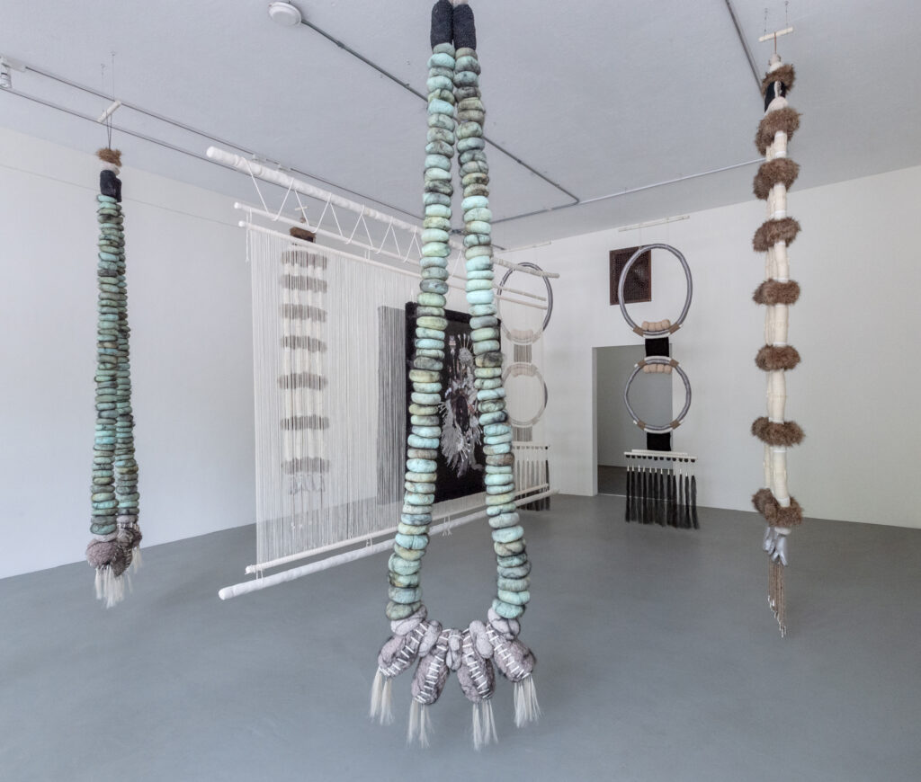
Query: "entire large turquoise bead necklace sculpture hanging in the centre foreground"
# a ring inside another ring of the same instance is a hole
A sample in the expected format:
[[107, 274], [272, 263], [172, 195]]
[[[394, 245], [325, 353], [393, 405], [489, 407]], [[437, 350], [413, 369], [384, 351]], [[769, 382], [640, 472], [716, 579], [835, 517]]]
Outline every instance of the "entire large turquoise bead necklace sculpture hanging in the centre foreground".
[[[452, 43], [453, 40], [453, 43]], [[493, 248], [489, 211], [489, 167], [483, 139], [484, 107], [479, 88], [480, 63], [469, 6], [438, 0], [432, 8], [432, 56], [428, 61], [428, 144], [426, 145], [425, 222], [421, 292], [413, 383], [412, 433], [407, 437], [406, 483], [399, 531], [390, 558], [390, 602], [386, 614], [392, 637], [378, 657], [371, 694], [372, 718], [392, 720], [391, 684], [418, 665], [413, 677], [413, 704], [407, 741], [428, 742], [426, 707], [434, 704], [455, 671], [461, 690], [473, 704], [473, 745], [495, 742], [491, 698], [495, 668], [515, 684], [515, 722], [540, 714], [531, 672], [534, 655], [518, 639], [519, 617], [528, 604], [530, 563], [524, 530], [516, 512], [511, 427], [502, 387], [499, 322], [493, 294]], [[456, 47], [456, 48], [455, 48]], [[455, 132], [455, 109], [459, 124]], [[486, 513], [492, 527], [498, 570], [497, 591], [487, 621], [464, 629], [441, 627], [427, 619], [419, 570], [426, 553], [426, 531], [435, 499], [436, 454], [441, 433], [437, 405], [441, 398], [438, 370], [444, 357], [444, 317], [448, 292], [451, 216], [451, 157], [460, 154], [467, 301], [472, 315], [478, 415], [484, 428]]]

